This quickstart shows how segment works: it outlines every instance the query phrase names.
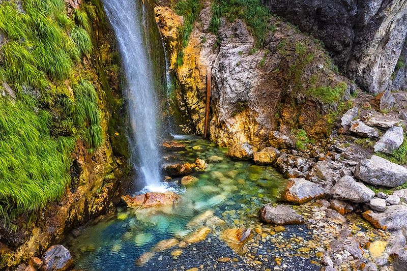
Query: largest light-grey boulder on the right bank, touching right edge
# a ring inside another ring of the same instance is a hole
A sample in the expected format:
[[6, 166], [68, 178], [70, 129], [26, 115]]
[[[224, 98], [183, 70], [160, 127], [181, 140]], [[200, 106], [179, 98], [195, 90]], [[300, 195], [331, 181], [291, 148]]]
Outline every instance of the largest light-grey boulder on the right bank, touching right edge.
[[365, 183], [386, 187], [397, 187], [407, 180], [407, 169], [375, 155], [360, 161], [354, 174]]

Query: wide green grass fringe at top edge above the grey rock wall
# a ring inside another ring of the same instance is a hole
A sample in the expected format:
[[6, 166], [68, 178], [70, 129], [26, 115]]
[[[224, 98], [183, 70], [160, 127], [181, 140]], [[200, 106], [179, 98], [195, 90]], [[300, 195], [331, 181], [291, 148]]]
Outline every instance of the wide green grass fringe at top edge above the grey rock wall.
[[212, 2], [212, 19], [209, 29], [218, 33], [220, 18], [224, 16], [230, 22], [245, 20], [256, 39], [256, 47], [264, 46], [269, 31], [275, 31], [269, 25], [270, 12], [259, 0], [215, 0]]

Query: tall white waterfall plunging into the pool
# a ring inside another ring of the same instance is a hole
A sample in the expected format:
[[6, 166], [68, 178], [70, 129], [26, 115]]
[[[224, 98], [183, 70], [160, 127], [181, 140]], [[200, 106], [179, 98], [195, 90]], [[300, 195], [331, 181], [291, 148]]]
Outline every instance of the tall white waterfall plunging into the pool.
[[103, 0], [104, 9], [119, 43], [126, 74], [126, 98], [135, 143], [132, 163], [138, 177], [150, 188], [159, 187], [161, 177], [157, 142], [157, 94], [152, 59], [147, 49], [150, 42], [141, 1]]

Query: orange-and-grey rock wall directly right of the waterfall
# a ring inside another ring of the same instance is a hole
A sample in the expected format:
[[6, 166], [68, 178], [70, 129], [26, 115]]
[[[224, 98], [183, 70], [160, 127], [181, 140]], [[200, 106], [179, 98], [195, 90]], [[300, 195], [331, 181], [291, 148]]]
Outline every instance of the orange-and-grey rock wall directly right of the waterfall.
[[[311, 136], [327, 135], [328, 116], [343, 104], [341, 98], [350, 93], [352, 83], [331, 70], [321, 46], [274, 18], [270, 25], [276, 31], [269, 33], [264, 48], [255, 50], [255, 39], [243, 20], [221, 19], [214, 34], [209, 31], [211, 18], [207, 2], [182, 51], [183, 64], [177, 66], [174, 59], [182, 45], [175, 29], [183, 19], [168, 7], [156, 7], [156, 21], [178, 83], [173, 104], [190, 116], [184, 130], [203, 133], [207, 68], [211, 67], [210, 135], [218, 145], [248, 141], [258, 148], [268, 144], [274, 130], [289, 134], [304, 129]], [[324, 101], [324, 96], [330, 98]]]

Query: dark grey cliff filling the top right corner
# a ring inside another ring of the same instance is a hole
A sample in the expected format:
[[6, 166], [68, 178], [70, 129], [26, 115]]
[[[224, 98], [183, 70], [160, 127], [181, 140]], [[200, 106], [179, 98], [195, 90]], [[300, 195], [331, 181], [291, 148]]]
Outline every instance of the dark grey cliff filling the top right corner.
[[407, 34], [407, 1], [268, 1], [284, 17], [324, 41], [335, 63], [373, 94], [391, 86]]

